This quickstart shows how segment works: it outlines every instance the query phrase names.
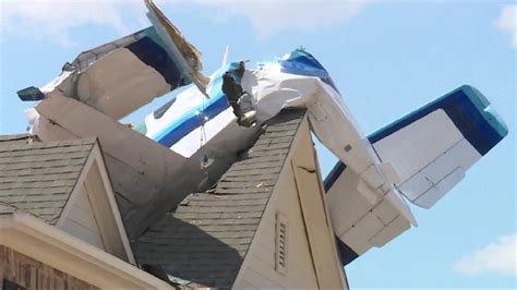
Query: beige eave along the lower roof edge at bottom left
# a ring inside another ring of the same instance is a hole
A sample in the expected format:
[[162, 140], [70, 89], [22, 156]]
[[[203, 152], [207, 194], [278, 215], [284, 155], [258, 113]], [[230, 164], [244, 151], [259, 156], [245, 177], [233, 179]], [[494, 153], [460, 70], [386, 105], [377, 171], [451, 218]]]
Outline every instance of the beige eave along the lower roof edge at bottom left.
[[99, 288], [172, 289], [165, 281], [25, 213], [0, 216], [0, 244]]

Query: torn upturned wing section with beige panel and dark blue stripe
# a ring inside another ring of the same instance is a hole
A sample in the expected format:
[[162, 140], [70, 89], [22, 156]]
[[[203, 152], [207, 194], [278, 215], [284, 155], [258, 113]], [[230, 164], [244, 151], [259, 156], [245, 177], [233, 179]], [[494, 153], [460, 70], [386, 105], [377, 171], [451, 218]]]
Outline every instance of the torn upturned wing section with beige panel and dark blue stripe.
[[59, 92], [118, 120], [192, 82], [204, 92], [201, 53], [152, 1], [146, 4], [153, 26], [80, 53], [52, 82], [22, 89], [20, 98]]

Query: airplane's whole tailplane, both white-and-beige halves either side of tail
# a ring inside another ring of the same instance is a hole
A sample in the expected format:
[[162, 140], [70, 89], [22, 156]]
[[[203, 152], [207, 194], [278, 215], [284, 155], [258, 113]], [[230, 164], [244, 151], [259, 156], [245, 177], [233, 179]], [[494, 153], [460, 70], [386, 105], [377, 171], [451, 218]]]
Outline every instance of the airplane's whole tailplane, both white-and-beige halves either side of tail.
[[[507, 132], [488, 99], [464, 85], [368, 138], [381, 161], [396, 171], [399, 192], [430, 208]], [[359, 182], [358, 174], [341, 162], [325, 180], [345, 264], [410, 228], [386, 201], [373, 204], [359, 194]]]

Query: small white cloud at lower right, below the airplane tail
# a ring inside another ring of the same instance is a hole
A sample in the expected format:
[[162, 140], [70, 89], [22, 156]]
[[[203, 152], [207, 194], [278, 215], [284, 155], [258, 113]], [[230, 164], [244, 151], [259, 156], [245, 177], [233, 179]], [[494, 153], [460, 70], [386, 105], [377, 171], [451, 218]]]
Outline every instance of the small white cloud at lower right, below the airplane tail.
[[517, 275], [517, 233], [502, 235], [472, 254], [461, 257], [453, 269], [468, 276], [492, 273], [505, 276]]

